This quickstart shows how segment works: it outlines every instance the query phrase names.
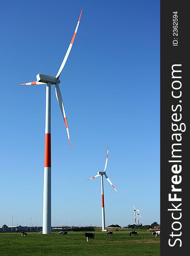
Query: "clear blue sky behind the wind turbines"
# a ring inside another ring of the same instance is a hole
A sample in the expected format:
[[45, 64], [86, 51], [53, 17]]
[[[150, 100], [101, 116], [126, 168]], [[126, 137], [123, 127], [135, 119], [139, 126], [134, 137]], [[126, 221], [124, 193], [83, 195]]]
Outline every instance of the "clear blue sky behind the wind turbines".
[[71, 150], [52, 86], [52, 225], [160, 224], [160, 2], [3, 1], [0, 10], [0, 226], [42, 225], [44, 85], [60, 76]]

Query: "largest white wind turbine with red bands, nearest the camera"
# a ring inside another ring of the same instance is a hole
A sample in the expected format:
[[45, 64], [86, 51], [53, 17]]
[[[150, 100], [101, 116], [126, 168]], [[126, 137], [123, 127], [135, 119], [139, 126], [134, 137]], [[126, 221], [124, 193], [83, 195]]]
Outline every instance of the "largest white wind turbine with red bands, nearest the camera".
[[[81, 10], [82, 14], [82, 10]], [[43, 234], [51, 234], [51, 87], [55, 84], [55, 94], [58, 100], [58, 104], [60, 106], [60, 110], [63, 115], [63, 119], [66, 126], [66, 132], [69, 139], [69, 146], [71, 149], [70, 136], [69, 136], [69, 128], [67, 124], [65, 109], [63, 106], [63, 100], [60, 93], [60, 73], [65, 66], [66, 60], [71, 51], [73, 42], [75, 40], [75, 36], [78, 30], [78, 26], [81, 20], [81, 14], [78, 19], [77, 26], [75, 28], [75, 32], [72, 36], [72, 40], [69, 44], [69, 48], [66, 51], [66, 55], [63, 58], [62, 64], [58, 70], [56, 76], [47, 76], [43, 74], [37, 74], [37, 81], [33, 81], [26, 84], [21, 85], [36, 85], [36, 84], [46, 84], [46, 123], [45, 123], [45, 157], [44, 157], [44, 180], [43, 180]]]

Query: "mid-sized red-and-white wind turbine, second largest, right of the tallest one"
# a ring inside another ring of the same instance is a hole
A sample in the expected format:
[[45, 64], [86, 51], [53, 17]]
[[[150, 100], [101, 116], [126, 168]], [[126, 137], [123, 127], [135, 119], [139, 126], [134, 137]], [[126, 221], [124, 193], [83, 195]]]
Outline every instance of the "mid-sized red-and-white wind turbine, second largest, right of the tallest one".
[[[101, 211], [102, 211], [102, 231], [106, 231], [105, 227], [105, 211], [104, 211], [104, 183], [103, 183], [103, 175], [105, 175], [107, 181], [112, 185], [112, 187], [115, 189], [115, 186], [113, 186], [111, 180], [109, 180], [109, 177], [106, 174], [106, 167], [107, 167], [107, 159], [108, 159], [108, 146], [107, 146], [107, 157], [106, 157], [106, 163], [105, 163], [105, 167], [104, 167], [104, 172], [98, 172], [97, 175], [93, 176], [92, 178], [88, 179], [88, 180], [92, 180], [96, 177], [101, 176]], [[115, 191], [117, 192], [117, 190], [115, 189]], [[118, 193], [118, 192], [117, 192]]]

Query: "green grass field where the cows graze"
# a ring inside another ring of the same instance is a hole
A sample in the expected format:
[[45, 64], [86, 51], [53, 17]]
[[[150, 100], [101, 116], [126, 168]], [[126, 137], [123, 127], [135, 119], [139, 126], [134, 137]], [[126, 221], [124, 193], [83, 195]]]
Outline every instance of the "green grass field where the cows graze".
[[129, 236], [129, 231], [115, 231], [112, 236], [94, 233], [94, 242], [87, 242], [83, 232], [68, 232], [68, 236], [0, 233], [0, 256], [160, 256], [160, 237], [151, 232], [138, 231], [138, 236]]

